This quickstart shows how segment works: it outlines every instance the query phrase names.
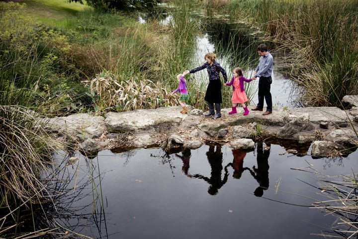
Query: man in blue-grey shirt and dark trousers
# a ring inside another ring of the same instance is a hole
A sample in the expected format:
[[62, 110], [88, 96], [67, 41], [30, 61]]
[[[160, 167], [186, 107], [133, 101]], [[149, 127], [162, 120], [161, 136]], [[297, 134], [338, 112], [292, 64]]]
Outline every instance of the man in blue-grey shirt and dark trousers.
[[251, 109], [252, 111], [263, 111], [264, 109], [264, 98], [266, 101], [266, 112], [264, 116], [272, 114], [272, 98], [271, 98], [271, 83], [272, 83], [272, 66], [273, 66], [273, 57], [267, 50], [265, 44], [260, 44], [257, 48], [257, 51], [260, 55], [259, 65], [256, 67], [254, 76], [252, 77], [255, 80], [257, 77], [259, 80], [259, 103], [256, 108]]

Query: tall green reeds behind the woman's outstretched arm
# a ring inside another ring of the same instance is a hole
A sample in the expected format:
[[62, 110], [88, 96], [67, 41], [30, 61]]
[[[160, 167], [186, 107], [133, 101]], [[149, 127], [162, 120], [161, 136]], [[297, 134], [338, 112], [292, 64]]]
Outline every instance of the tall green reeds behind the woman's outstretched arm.
[[[199, 4], [191, 0], [172, 0], [175, 7], [171, 8], [172, 16], [168, 24], [168, 32], [165, 34], [167, 45], [163, 49], [163, 59], [158, 61], [161, 69], [159, 73], [161, 81], [171, 91], [178, 87], [176, 76], [184, 70], [192, 67], [194, 50], [196, 48], [196, 37], [200, 33], [200, 19], [195, 9]], [[196, 63], [195, 63], [196, 64]], [[197, 109], [206, 109], [204, 103], [205, 85], [197, 84], [194, 81], [187, 80], [187, 89], [189, 99], [188, 105]]]

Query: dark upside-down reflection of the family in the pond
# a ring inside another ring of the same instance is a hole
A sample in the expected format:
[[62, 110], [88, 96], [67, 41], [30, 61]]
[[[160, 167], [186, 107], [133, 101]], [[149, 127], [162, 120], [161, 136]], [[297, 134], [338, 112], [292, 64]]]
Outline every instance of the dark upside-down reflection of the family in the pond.
[[[216, 195], [219, 189], [228, 180], [228, 167], [231, 166], [234, 169], [233, 178], [240, 179], [245, 170], [250, 171], [251, 175], [259, 183], [259, 186], [255, 189], [254, 195], [261, 197], [264, 194], [264, 190], [269, 188], [269, 150], [270, 146], [264, 147], [263, 142], [257, 144], [257, 166], [253, 166], [252, 169], [244, 167], [244, 158], [246, 152], [241, 149], [233, 149], [233, 162], [228, 163], [225, 167], [222, 166], [223, 154], [221, 152], [221, 145], [209, 145], [209, 150], [206, 152], [208, 162], [211, 167], [210, 177], [205, 177], [201, 174], [188, 174], [189, 158], [191, 156], [190, 149], [184, 149], [182, 156], [176, 154], [181, 158], [183, 162], [182, 171], [190, 178], [200, 178], [210, 184], [208, 193], [210, 195]], [[224, 169], [224, 176], [222, 178], [222, 171]]]

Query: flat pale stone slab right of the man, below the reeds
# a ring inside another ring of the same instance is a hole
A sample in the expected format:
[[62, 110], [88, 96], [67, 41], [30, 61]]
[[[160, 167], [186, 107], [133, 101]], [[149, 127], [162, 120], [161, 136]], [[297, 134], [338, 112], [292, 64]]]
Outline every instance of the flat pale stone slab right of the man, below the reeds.
[[[292, 115], [301, 116], [307, 113], [312, 123], [330, 122], [341, 124], [349, 121], [349, 115], [338, 107], [306, 107], [289, 110]], [[353, 120], [353, 119], [351, 119]]]

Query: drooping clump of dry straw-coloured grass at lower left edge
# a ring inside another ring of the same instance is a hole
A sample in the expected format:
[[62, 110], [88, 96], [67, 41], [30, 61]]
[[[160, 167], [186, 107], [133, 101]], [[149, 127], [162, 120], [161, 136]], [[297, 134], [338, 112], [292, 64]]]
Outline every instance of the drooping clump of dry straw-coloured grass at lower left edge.
[[0, 208], [1, 216], [8, 215], [0, 218], [2, 235], [23, 227], [19, 212], [48, 196], [41, 174], [51, 162], [53, 147], [59, 145], [42, 123], [27, 108], [0, 105]]

